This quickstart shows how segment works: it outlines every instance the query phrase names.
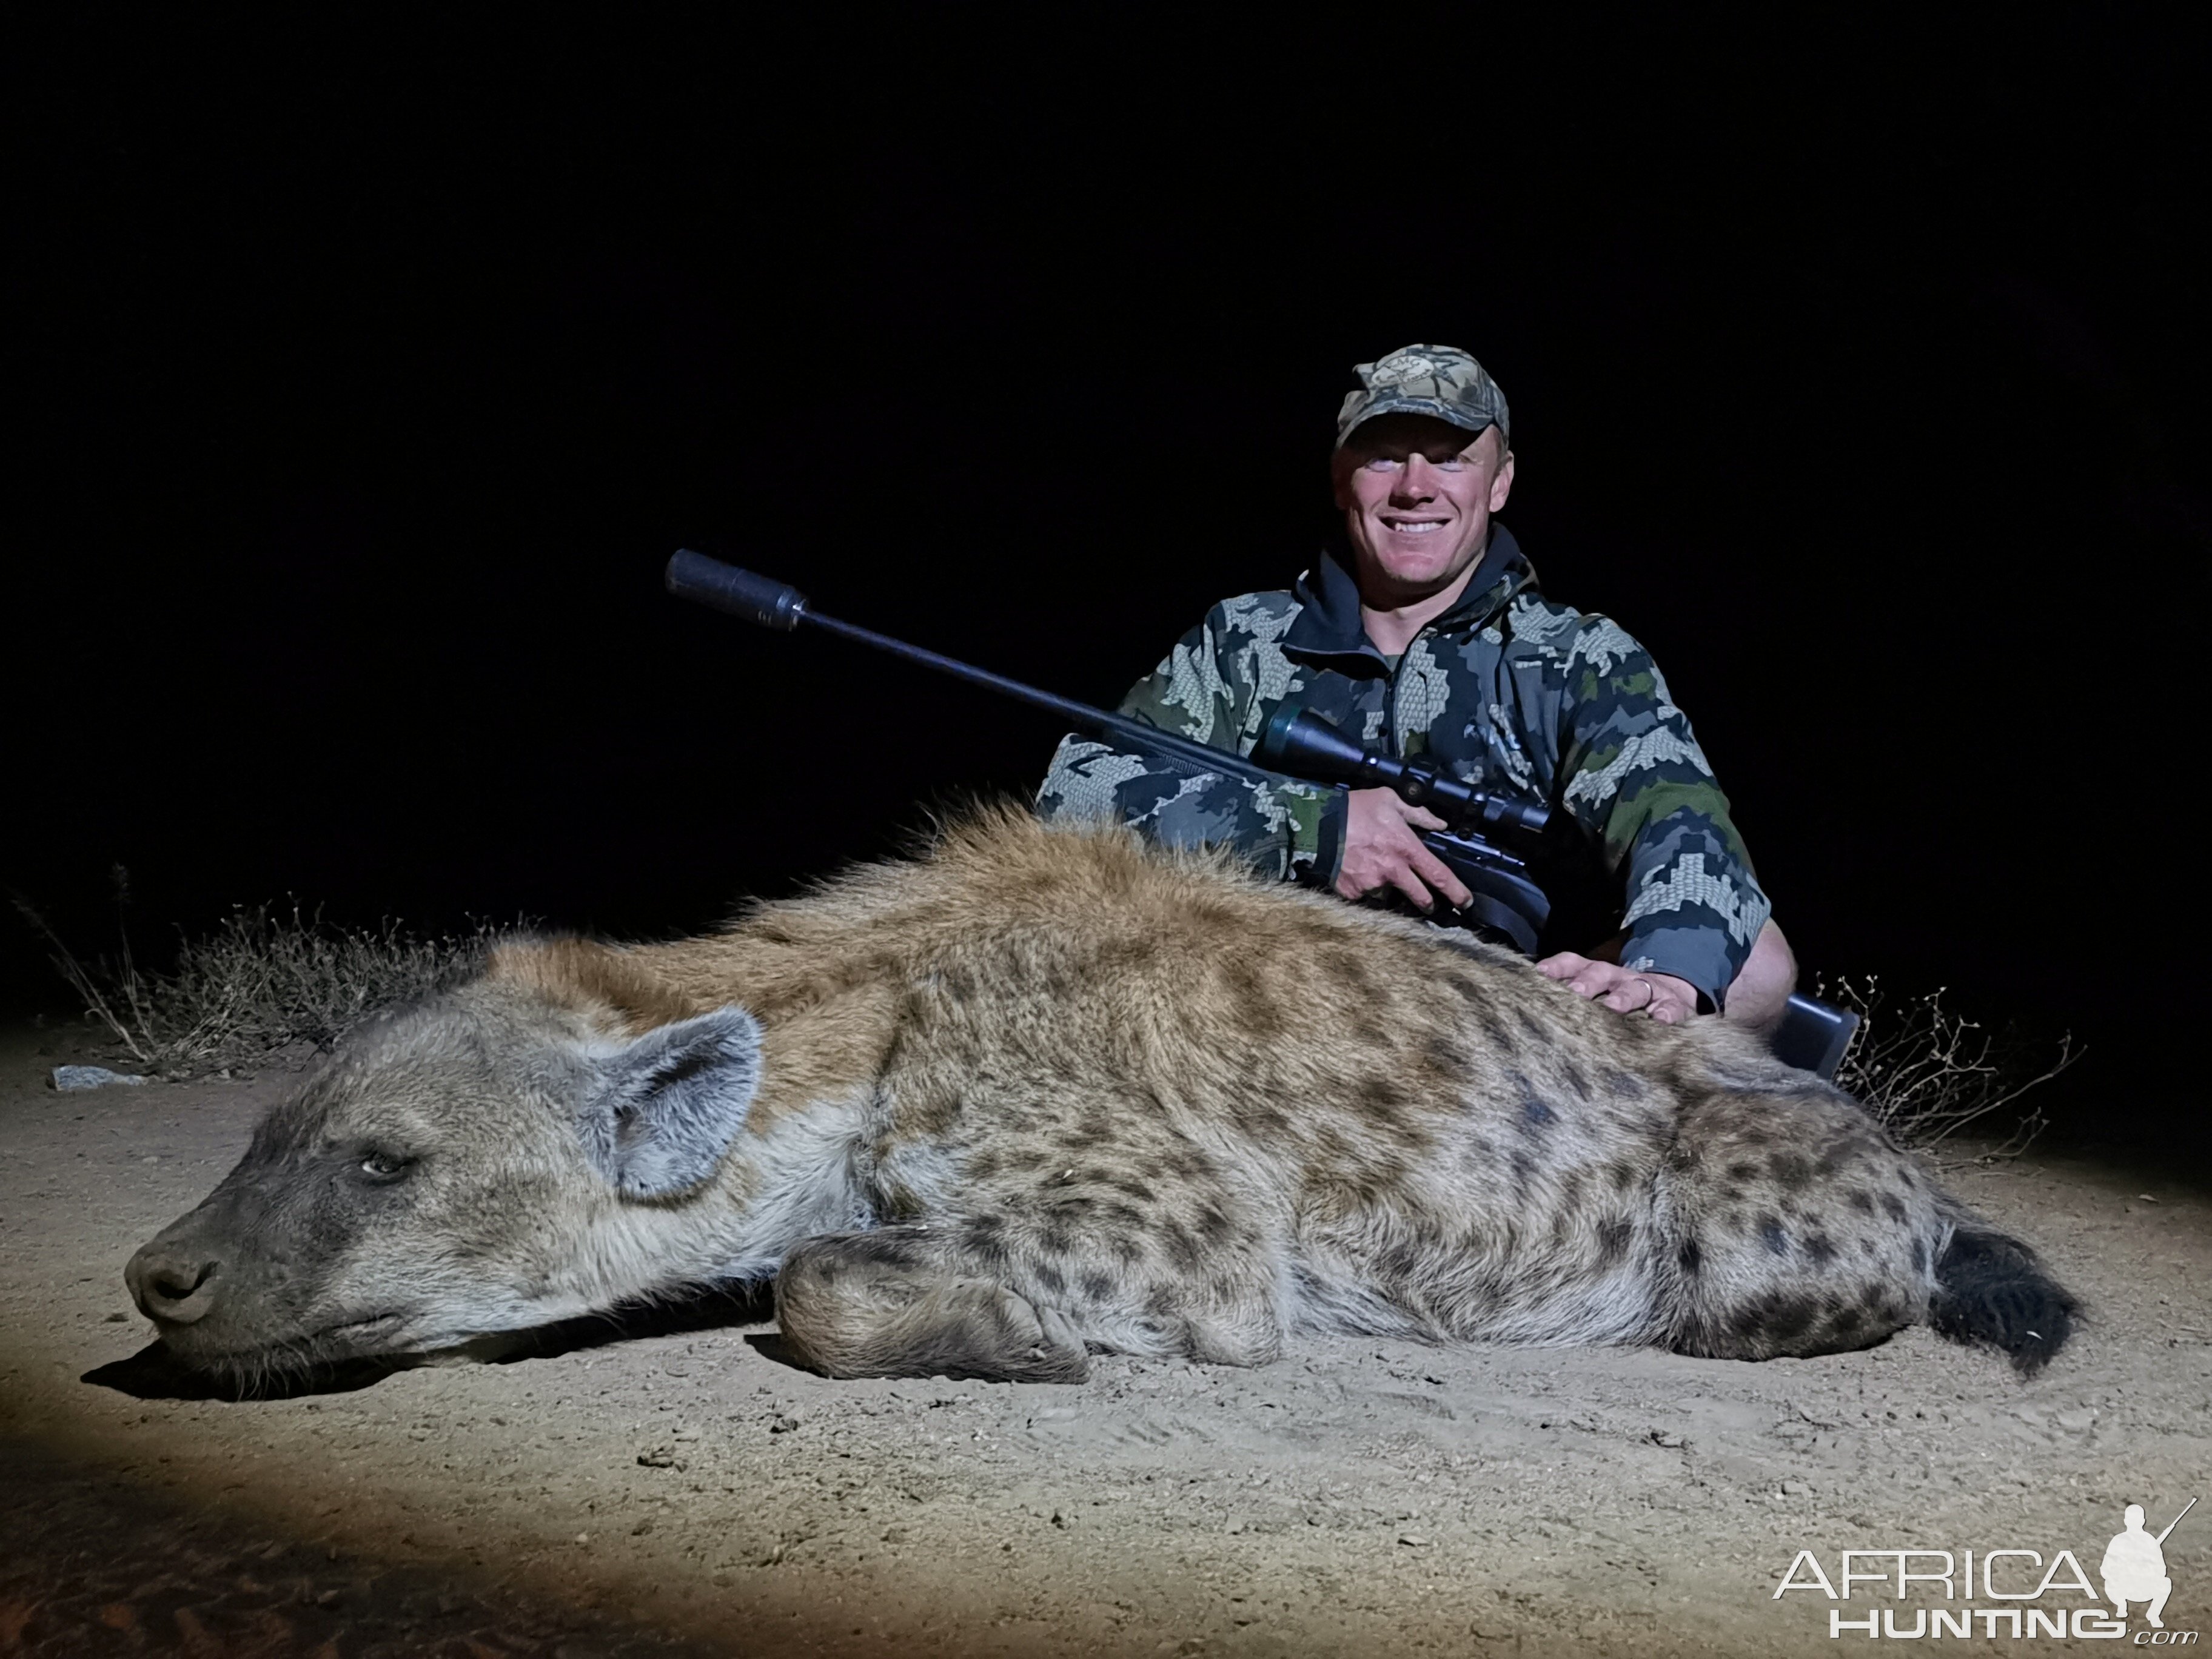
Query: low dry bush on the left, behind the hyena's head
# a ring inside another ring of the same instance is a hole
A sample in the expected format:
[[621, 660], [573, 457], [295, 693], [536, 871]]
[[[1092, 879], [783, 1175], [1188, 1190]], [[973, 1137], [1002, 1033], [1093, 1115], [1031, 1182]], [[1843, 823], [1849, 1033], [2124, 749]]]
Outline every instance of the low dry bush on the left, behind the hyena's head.
[[[117, 907], [128, 874], [115, 867]], [[142, 1066], [170, 1075], [228, 1068], [294, 1042], [330, 1048], [349, 1026], [465, 978], [502, 936], [487, 922], [425, 938], [396, 920], [334, 927], [321, 911], [232, 905], [204, 938], [186, 938], [168, 973], [146, 973], [117, 927], [115, 958], [91, 967], [22, 896], [15, 909], [53, 949], [53, 967]]]

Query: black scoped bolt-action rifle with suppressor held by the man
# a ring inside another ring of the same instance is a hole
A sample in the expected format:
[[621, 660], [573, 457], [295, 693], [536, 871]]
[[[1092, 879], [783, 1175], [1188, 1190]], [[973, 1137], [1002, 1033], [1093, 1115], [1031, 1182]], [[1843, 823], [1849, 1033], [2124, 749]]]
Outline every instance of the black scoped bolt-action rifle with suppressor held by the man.
[[[1400, 761], [1389, 754], [1371, 754], [1338, 726], [1296, 703], [1285, 703], [1267, 721], [1252, 748], [1256, 765], [1230, 750], [1194, 743], [1126, 714], [1108, 714], [1104, 708], [1091, 708], [1091, 703], [1077, 703], [987, 668], [940, 657], [872, 628], [825, 617], [807, 604], [799, 588], [710, 560], [706, 553], [679, 549], [668, 560], [668, 591], [679, 599], [726, 611], [776, 633], [794, 633], [805, 622], [902, 661], [964, 679], [969, 686], [982, 686], [1031, 708], [1042, 708], [1075, 730], [1102, 737], [1117, 748], [1157, 754], [1175, 765], [1225, 772], [1254, 783], [1276, 783], [1292, 776], [1345, 790], [1391, 790], [1400, 801], [1429, 807], [1444, 818], [1444, 830], [1420, 832], [1420, 841], [1469, 891], [1464, 907], [1438, 898], [1429, 920], [1500, 938], [1522, 956], [1537, 956], [1540, 947], [1548, 942], [1546, 933], [1557, 936], [1566, 929], [1571, 938], [1588, 940], [1608, 931], [1604, 922], [1608, 914], [1613, 920], [1619, 918], [1619, 905], [1599, 896], [1604, 883], [1595, 878], [1588, 838], [1571, 818], [1542, 805], [1478, 790], [1451, 776], [1429, 757]], [[1856, 1029], [1856, 1013], [1794, 995], [1783, 1029], [1774, 1037], [1774, 1048], [1794, 1066], [1834, 1077]]]

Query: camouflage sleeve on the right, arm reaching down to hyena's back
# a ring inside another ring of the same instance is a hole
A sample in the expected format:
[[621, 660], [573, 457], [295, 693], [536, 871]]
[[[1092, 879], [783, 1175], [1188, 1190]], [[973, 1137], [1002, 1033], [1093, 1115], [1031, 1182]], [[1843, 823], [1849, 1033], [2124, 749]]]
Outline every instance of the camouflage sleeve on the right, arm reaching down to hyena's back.
[[1566, 659], [1562, 803], [1626, 876], [1621, 962], [1674, 973], [1719, 1009], [1772, 905], [1659, 666], [1606, 617]]

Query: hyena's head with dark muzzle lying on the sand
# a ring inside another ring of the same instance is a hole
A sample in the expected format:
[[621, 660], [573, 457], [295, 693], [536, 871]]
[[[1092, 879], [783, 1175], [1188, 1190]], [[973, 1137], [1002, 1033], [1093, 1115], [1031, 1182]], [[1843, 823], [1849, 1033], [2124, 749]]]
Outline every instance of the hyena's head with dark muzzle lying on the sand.
[[480, 980], [358, 1031], [124, 1272], [188, 1365], [460, 1345], [659, 1287], [759, 1086], [743, 1009], [608, 1037]]

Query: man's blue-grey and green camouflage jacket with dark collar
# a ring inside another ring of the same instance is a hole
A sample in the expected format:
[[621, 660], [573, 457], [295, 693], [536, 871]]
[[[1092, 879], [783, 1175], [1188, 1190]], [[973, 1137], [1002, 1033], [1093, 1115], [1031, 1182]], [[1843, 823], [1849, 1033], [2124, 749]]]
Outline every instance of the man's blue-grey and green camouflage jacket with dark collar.
[[[1650, 653], [1608, 617], [1548, 602], [1504, 526], [1460, 604], [1396, 664], [1360, 628], [1352, 573], [1323, 557], [1290, 593], [1214, 606], [1121, 712], [1250, 754], [1292, 697], [1371, 750], [1431, 754], [1482, 790], [1571, 812], [1621, 883], [1621, 962], [1721, 1004], [1770, 909], [1728, 796]], [[1312, 885], [1343, 863], [1343, 790], [1201, 774], [1079, 737], [1062, 741], [1037, 810], [1230, 843]]]

